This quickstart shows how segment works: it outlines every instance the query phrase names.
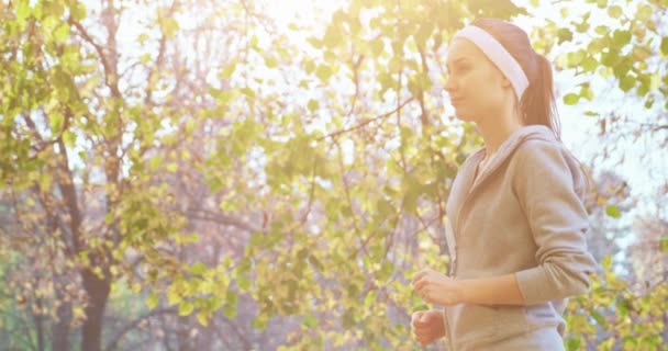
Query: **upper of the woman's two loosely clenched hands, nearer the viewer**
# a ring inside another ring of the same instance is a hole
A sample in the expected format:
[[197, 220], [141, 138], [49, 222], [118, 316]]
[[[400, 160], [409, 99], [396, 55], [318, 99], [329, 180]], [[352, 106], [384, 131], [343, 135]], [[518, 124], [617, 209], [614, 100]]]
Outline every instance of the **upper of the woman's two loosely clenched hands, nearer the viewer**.
[[413, 275], [412, 285], [425, 303], [452, 306], [464, 302], [464, 290], [459, 281], [432, 269], [423, 269]]

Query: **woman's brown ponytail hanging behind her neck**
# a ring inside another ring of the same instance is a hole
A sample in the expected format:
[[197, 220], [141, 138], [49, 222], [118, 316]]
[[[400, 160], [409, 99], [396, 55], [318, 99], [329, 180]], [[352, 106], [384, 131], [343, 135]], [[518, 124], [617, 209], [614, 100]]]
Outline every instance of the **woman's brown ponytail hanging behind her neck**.
[[522, 118], [527, 125], [541, 124], [548, 127], [557, 139], [560, 139], [561, 126], [555, 103], [552, 66], [549, 60], [538, 53], [534, 53], [534, 58], [536, 75], [533, 75], [533, 80], [520, 102]]

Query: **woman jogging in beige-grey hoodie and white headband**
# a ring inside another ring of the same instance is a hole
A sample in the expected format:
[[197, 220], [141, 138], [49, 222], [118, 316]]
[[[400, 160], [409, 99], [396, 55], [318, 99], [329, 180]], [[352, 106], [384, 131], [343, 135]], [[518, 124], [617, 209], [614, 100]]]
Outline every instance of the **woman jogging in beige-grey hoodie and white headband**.
[[445, 89], [485, 147], [447, 203], [450, 272], [417, 272], [415, 339], [450, 350], [564, 350], [566, 298], [587, 292], [586, 178], [559, 139], [549, 61], [520, 27], [480, 19], [448, 48]]

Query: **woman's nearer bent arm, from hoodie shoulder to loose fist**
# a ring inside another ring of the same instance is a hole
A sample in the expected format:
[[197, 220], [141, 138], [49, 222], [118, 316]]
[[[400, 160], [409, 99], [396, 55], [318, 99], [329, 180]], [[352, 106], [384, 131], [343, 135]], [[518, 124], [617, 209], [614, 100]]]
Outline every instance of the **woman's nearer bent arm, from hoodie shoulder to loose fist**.
[[587, 292], [597, 263], [587, 251], [587, 211], [577, 165], [556, 143], [525, 141], [516, 152], [521, 169], [514, 191], [537, 246], [537, 265], [501, 276], [453, 280], [426, 269], [413, 285], [427, 303], [533, 305]]

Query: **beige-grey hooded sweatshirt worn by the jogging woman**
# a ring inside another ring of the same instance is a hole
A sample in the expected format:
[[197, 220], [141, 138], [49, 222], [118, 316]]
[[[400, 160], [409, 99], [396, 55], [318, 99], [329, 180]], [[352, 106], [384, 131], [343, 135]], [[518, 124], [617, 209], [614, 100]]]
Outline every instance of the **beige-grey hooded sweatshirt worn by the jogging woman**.
[[560, 341], [566, 298], [587, 292], [597, 270], [584, 239], [586, 178], [545, 126], [515, 131], [474, 182], [483, 157], [480, 149], [461, 165], [448, 197], [449, 275], [515, 274], [525, 304], [445, 307], [446, 342], [496, 350], [501, 340], [537, 338], [546, 328]]

